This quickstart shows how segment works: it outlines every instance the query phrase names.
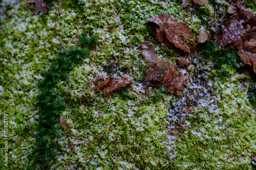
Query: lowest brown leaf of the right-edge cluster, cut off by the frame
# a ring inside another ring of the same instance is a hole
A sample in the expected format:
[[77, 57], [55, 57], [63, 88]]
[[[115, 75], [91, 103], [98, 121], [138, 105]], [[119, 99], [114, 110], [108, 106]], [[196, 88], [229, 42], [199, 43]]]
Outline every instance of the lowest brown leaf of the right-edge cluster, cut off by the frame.
[[253, 65], [252, 69], [256, 73], [256, 54], [244, 50], [239, 51], [238, 54], [245, 64], [249, 64], [250, 66]]

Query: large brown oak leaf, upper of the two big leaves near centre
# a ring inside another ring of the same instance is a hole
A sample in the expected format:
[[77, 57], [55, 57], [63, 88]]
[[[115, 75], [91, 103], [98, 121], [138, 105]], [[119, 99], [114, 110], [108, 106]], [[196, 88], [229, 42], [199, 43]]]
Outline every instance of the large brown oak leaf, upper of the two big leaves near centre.
[[163, 43], [164, 33], [170, 42], [178, 48], [181, 48], [184, 52], [194, 53], [196, 48], [195, 39], [193, 33], [188, 25], [178, 21], [169, 15], [159, 15], [155, 18], [148, 20], [146, 23], [156, 23], [159, 26], [157, 28], [156, 39]]

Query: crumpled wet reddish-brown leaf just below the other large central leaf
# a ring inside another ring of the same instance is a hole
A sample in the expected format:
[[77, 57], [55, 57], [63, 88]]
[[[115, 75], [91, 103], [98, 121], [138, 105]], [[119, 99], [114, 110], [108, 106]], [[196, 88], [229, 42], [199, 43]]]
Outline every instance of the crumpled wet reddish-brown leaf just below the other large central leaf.
[[145, 80], [149, 86], [165, 87], [169, 92], [182, 95], [182, 90], [185, 89], [185, 80], [187, 74], [179, 74], [177, 65], [164, 61], [157, 57], [153, 45], [147, 42], [142, 42], [142, 56], [148, 62], [148, 69], [145, 70]]

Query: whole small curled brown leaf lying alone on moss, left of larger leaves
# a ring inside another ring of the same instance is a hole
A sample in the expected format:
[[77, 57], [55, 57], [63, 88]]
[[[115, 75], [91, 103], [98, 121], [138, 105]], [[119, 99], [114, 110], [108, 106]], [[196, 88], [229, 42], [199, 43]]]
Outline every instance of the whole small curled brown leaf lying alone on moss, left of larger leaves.
[[121, 87], [125, 87], [128, 84], [132, 83], [133, 80], [129, 77], [123, 76], [122, 79], [115, 79], [112, 78], [106, 79], [104, 82], [100, 83], [98, 86], [93, 88], [94, 91], [99, 91], [100, 89], [104, 88], [104, 94], [109, 94], [114, 90], [117, 90]]

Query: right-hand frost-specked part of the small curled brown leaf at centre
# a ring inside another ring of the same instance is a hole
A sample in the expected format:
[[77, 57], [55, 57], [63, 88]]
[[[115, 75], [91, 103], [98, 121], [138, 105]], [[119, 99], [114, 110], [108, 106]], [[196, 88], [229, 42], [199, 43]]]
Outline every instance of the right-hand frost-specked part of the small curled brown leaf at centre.
[[132, 83], [133, 80], [129, 77], [126, 76], [122, 76], [122, 79], [117, 79], [113, 81], [113, 84], [110, 87], [106, 87], [104, 89], [104, 94], [109, 94], [114, 90], [117, 90], [121, 87], [125, 87], [127, 85], [129, 85], [130, 83]]

